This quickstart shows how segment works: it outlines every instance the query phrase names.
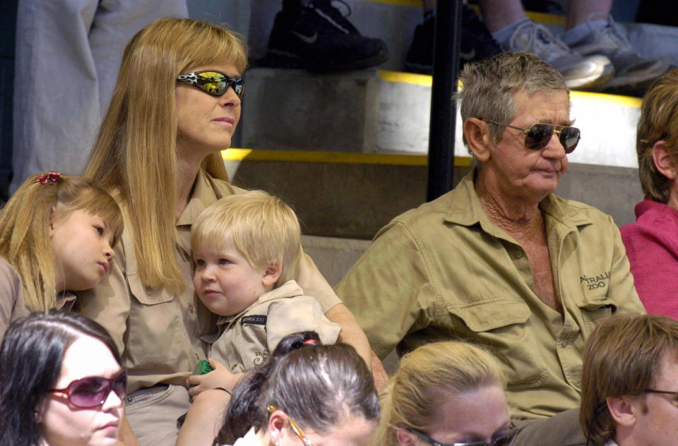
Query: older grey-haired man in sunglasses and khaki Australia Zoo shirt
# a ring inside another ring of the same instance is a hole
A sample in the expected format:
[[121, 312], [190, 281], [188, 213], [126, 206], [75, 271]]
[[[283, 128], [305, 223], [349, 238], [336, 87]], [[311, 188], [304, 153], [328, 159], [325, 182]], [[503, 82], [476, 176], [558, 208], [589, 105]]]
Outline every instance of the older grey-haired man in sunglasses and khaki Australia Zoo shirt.
[[595, 323], [643, 306], [612, 218], [553, 195], [579, 140], [561, 75], [504, 53], [461, 78], [477, 166], [381, 229], [337, 293], [379, 357], [437, 339], [483, 344], [504, 363], [513, 416], [552, 416], [579, 404]]

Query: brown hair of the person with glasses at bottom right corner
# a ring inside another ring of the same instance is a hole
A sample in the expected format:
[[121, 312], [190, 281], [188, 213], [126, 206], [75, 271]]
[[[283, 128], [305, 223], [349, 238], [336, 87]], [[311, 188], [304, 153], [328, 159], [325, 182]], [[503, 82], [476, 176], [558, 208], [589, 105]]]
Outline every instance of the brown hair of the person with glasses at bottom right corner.
[[658, 315], [614, 315], [586, 342], [581, 374], [579, 424], [587, 445], [614, 436], [607, 397], [640, 395], [653, 387], [666, 354], [678, 351], [678, 321]]

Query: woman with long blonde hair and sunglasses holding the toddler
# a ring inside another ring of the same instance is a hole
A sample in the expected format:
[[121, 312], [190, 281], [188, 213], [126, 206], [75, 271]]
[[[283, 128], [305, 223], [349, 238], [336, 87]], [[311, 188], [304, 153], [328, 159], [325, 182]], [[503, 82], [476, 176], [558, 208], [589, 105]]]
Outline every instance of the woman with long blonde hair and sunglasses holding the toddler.
[[[189, 409], [184, 383], [206, 359], [215, 320], [193, 287], [194, 219], [232, 186], [220, 154], [240, 119], [243, 42], [198, 20], [162, 18], [127, 45], [85, 176], [118, 201], [116, 263], [83, 311], [111, 333], [129, 371], [126, 414], [141, 446], [173, 445]], [[307, 255], [295, 279], [369, 359], [364, 333]], [[206, 375], [208, 376], [208, 375]]]

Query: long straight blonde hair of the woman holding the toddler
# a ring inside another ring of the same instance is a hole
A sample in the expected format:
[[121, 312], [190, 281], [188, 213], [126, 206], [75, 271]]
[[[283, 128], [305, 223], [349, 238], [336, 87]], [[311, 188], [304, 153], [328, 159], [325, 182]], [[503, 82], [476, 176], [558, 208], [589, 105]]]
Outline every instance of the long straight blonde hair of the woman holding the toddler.
[[[119, 198], [133, 228], [138, 273], [145, 287], [182, 291], [176, 255], [176, 78], [198, 66], [226, 62], [239, 72], [246, 49], [233, 32], [213, 23], [161, 18], [127, 44], [111, 104], [85, 176]], [[227, 147], [224, 147], [227, 148]], [[208, 155], [201, 169], [227, 181], [221, 155]]]

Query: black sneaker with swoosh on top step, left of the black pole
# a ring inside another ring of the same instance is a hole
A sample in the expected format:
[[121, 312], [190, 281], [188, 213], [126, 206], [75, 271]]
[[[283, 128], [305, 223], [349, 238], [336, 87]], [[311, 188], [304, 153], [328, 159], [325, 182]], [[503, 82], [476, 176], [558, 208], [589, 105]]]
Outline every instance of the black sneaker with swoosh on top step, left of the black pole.
[[342, 71], [369, 68], [388, 59], [386, 43], [364, 37], [331, 0], [283, 8], [275, 16], [264, 64], [273, 68]]

